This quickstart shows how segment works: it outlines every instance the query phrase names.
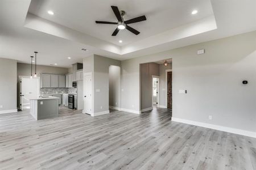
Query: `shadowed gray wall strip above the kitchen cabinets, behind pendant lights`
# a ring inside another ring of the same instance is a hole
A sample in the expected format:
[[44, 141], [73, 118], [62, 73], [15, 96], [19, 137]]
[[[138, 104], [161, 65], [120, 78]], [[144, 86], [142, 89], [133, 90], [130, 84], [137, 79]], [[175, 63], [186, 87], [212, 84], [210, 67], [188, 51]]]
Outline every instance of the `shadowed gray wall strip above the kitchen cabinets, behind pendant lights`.
[[[32, 74], [35, 73], [35, 65], [33, 63]], [[40, 73], [53, 73], [53, 74], [67, 74], [68, 69], [62, 67], [52, 67], [52, 66], [36, 66], [36, 74], [40, 76]], [[31, 75], [31, 65], [27, 63], [17, 63], [17, 75]]]

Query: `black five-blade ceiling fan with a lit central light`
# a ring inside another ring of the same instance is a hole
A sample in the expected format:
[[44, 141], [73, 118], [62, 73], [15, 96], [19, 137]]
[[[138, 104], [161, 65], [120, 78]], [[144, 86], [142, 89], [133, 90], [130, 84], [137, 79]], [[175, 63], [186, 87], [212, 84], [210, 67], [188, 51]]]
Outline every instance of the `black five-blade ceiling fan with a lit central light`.
[[125, 29], [125, 28], [130, 32], [134, 33], [135, 35], [138, 35], [140, 33], [139, 31], [137, 31], [134, 28], [131, 28], [127, 24], [138, 23], [138, 22], [142, 22], [143, 20], [146, 20], [145, 15], [124, 21], [123, 15], [125, 15], [125, 11], [119, 11], [117, 6], [111, 6], [111, 7], [112, 7], [112, 10], [114, 11], [115, 16], [117, 17], [118, 22], [104, 22], [104, 21], [96, 20], [97, 24], [117, 24], [117, 29], [115, 29], [115, 31], [112, 33], [112, 36], [116, 36], [120, 29]]

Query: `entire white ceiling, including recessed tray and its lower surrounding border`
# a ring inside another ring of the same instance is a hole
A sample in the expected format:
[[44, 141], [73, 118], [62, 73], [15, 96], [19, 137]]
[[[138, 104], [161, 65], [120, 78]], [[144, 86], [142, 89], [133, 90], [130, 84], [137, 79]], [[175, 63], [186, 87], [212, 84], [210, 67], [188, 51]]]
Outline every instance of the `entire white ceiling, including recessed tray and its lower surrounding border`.
[[[40, 0], [42, 6], [38, 1], [32, 1], [30, 6], [30, 2], [0, 1], [1, 58], [29, 63], [30, 56], [37, 50], [39, 64], [57, 63], [57, 66], [70, 67], [92, 54], [123, 60], [256, 30], [255, 0], [161, 0], [151, 3]], [[146, 21], [133, 24], [141, 34], [135, 36], [123, 31], [118, 37], [111, 37], [113, 25], [94, 24], [96, 19], [115, 19], [110, 5], [125, 10], [127, 19], [146, 15]], [[98, 7], [96, 12], [91, 10], [94, 7]], [[28, 8], [38, 16], [29, 14]], [[83, 8], [90, 12], [82, 11]], [[194, 8], [199, 11], [196, 16], [190, 14]], [[48, 10], [55, 15], [49, 16]], [[163, 15], [165, 18], [159, 19]], [[84, 20], [92, 20], [92, 24], [81, 24]], [[166, 20], [165, 25], [154, 24]], [[121, 37], [122, 46], [117, 43]], [[84, 52], [81, 48], [89, 51]]]

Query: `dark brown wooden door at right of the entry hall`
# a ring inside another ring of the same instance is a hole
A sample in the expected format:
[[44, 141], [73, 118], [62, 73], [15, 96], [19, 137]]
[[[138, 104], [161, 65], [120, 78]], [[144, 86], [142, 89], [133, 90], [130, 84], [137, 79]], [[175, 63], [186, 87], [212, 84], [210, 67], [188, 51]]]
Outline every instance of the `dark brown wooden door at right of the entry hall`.
[[166, 105], [167, 108], [172, 109], [172, 70], [166, 70]]

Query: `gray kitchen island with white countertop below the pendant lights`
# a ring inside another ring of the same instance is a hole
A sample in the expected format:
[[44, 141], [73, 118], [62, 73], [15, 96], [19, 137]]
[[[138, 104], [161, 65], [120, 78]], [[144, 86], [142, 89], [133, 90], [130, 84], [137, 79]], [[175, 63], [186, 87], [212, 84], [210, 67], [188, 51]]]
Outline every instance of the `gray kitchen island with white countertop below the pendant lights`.
[[42, 96], [30, 99], [30, 114], [35, 120], [59, 116], [59, 97]]

